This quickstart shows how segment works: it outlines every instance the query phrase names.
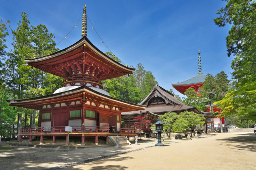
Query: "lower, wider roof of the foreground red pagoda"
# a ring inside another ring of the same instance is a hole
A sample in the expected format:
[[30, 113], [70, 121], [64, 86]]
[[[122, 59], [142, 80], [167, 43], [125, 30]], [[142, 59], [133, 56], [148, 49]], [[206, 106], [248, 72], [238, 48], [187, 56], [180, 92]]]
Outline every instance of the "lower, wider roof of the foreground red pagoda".
[[71, 103], [75, 100], [81, 101], [82, 103], [83, 96], [86, 97], [86, 101], [94, 102], [95, 105], [100, 105], [104, 103], [104, 105], [119, 108], [121, 112], [144, 110], [144, 108], [146, 107], [145, 105], [138, 105], [120, 99], [116, 99], [108, 95], [104, 95], [98, 91], [91, 89], [90, 87], [87, 87], [86, 85], [83, 85], [76, 89], [52, 95], [34, 97], [30, 99], [6, 101], [10, 103], [10, 106], [40, 110], [42, 109], [43, 105], [54, 105], [56, 103]]

